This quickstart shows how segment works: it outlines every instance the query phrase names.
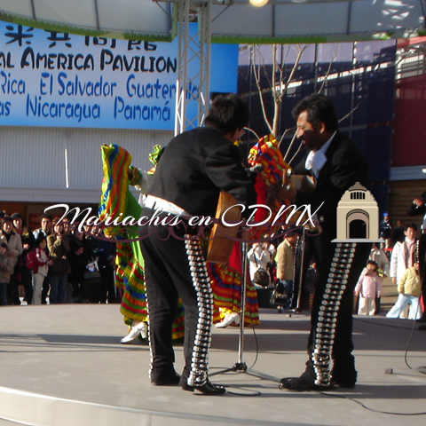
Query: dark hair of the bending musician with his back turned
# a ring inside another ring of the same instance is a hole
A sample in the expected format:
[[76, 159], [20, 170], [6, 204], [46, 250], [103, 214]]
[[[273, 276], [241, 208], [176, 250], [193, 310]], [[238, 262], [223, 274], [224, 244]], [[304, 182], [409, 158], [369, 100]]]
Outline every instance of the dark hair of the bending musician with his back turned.
[[206, 117], [206, 124], [216, 127], [225, 135], [248, 125], [249, 111], [247, 104], [237, 95], [217, 96]]

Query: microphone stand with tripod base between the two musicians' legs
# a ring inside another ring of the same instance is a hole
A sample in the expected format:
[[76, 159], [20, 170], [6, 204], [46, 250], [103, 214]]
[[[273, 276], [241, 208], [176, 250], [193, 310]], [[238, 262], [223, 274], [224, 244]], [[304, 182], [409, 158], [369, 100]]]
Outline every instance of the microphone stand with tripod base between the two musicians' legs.
[[233, 365], [233, 367], [225, 368], [224, 370], [217, 371], [212, 375], [220, 375], [230, 372], [241, 372], [246, 373], [247, 375], [253, 375], [264, 380], [269, 380], [271, 382], [280, 383], [280, 379], [274, 377], [273, 375], [265, 375], [259, 371], [248, 368], [247, 364], [243, 360], [244, 352], [244, 313], [246, 312], [246, 280], [247, 280], [247, 242], [241, 243], [241, 254], [242, 254], [242, 282], [241, 282], [241, 306], [240, 306], [240, 335], [238, 339], [238, 361]]

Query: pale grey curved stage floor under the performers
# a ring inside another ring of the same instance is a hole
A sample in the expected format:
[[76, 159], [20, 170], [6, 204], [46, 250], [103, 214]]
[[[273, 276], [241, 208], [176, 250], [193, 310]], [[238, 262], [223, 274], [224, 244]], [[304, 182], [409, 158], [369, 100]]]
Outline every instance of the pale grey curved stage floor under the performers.
[[[261, 310], [256, 337], [244, 334], [242, 360], [267, 379], [220, 373], [239, 360], [239, 328], [213, 327], [213, 383], [229, 393], [206, 397], [148, 379], [149, 348], [120, 344], [127, 332], [119, 305], [64, 304], [0, 308], [0, 425], [423, 425], [426, 331], [413, 321], [355, 317], [359, 383], [353, 390], [295, 393], [280, 377], [300, 375], [307, 312]], [[258, 353], [256, 355], [256, 347]], [[176, 367], [183, 365], [176, 346]], [[385, 371], [388, 371], [388, 374]], [[389, 373], [392, 374], [389, 374]], [[219, 373], [219, 374], [217, 374]], [[420, 415], [413, 415], [419, 414]], [[400, 415], [403, 414], [403, 415]], [[411, 415], [410, 415], [411, 414]]]

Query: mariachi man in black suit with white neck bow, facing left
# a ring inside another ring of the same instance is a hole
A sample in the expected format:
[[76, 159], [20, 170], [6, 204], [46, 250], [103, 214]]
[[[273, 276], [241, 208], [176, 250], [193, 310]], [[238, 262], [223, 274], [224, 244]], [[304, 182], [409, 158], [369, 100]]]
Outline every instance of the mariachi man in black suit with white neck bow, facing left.
[[[309, 359], [304, 374], [284, 378], [280, 389], [325, 390], [333, 385], [352, 388], [357, 380], [352, 343], [353, 288], [367, 263], [370, 244], [348, 245], [331, 241], [336, 235], [337, 204], [351, 186], [367, 180], [367, 162], [349, 138], [337, 129], [335, 107], [324, 95], [314, 94], [293, 109], [297, 122], [296, 136], [303, 140], [308, 153], [293, 170], [310, 175], [316, 186], [312, 193], [284, 189], [283, 198], [297, 206], [310, 204], [319, 208], [322, 233], [308, 238], [309, 256], [316, 260], [319, 280], [315, 290]], [[362, 228], [362, 226], [361, 226]], [[366, 238], [365, 229], [351, 228], [351, 239]], [[349, 266], [351, 265], [351, 268]]]

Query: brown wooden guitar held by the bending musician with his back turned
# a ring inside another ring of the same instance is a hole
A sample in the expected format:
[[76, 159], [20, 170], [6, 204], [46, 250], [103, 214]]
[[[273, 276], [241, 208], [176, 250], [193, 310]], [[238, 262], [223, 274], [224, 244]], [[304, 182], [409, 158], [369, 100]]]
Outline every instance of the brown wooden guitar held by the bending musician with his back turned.
[[[224, 191], [220, 193], [216, 210], [218, 222], [211, 229], [206, 262], [214, 264], [226, 264], [228, 262], [235, 243], [231, 238], [235, 238], [237, 235], [239, 225], [226, 226], [222, 223], [222, 217], [226, 209], [235, 204], [237, 204], [237, 201], [235, 201], [233, 195]], [[241, 208], [230, 209], [225, 215], [225, 221], [228, 224], [239, 223], [240, 220]]]

